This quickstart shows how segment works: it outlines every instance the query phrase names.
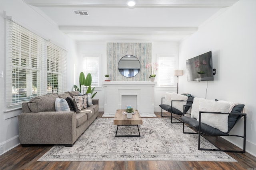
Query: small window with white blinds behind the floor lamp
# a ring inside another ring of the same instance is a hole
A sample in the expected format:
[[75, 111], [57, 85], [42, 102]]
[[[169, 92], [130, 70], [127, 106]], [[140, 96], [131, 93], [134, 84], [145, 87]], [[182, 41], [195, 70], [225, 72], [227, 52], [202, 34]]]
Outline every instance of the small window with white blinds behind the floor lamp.
[[174, 86], [174, 55], [158, 55], [159, 86]]

